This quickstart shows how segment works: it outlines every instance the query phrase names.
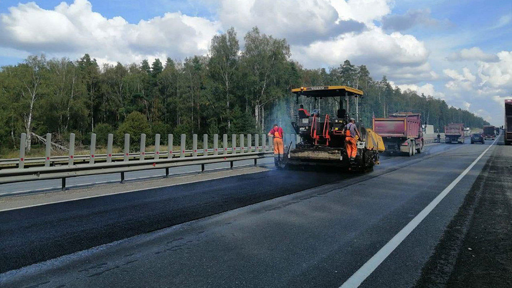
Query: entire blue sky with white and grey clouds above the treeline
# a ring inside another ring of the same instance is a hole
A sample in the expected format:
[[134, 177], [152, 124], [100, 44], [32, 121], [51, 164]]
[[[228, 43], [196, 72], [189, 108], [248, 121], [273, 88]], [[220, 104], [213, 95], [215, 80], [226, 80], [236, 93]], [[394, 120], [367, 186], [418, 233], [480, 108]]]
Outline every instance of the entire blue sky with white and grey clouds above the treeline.
[[[100, 62], [206, 54], [253, 26], [286, 38], [307, 68], [345, 59], [402, 89], [443, 98], [501, 125], [512, 93], [512, 1], [0, 0], [0, 65], [30, 54]], [[297, 18], [296, 15], [308, 17]], [[304, 36], [307, 37], [304, 37]]]

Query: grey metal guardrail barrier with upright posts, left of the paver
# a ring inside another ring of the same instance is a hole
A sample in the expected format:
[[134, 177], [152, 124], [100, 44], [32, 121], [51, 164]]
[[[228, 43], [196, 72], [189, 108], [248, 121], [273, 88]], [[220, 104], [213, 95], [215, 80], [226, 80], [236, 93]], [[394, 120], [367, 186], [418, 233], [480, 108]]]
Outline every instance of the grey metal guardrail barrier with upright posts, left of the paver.
[[[112, 153], [113, 135], [109, 134], [106, 154], [95, 154], [96, 135], [91, 136], [91, 146], [89, 155], [74, 155], [75, 135], [70, 135], [69, 155], [51, 156], [51, 135], [47, 135], [46, 156], [25, 159], [25, 140], [26, 135], [20, 137], [19, 159], [0, 160], [0, 165], [15, 165], [11, 168], [0, 170], [0, 184], [61, 179], [62, 190], [66, 189], [66, 179], [76, 176], [98, 175], [120, 173], [121, 183], [124, 182], [124, 173], [140, 170], [165, 169], [165, 176], [169, 175], [169, 168], [201, 165], [201, 171], [205, 170], [206, 164], [229, 162], [230, 168], [233, 168], [233, 162], [243, 160], [254, 160], [254, 165], [258, 164], [258, 159], [273, 154], [272, 138], [261, 135], [262, 143], [260, 145], [260, 135], [232, 135], [231, 147], [228, 147], [228, 137], [226, 134], [222, 137], [222, 148], [219, 147], [219, 136], [214, 135], [214, 147], [208, 148], [208, 136], [203, 135], [203, 148], [198, 149], [198, 137], [193, 135], [192, 149], [185, 149], [186, 136], [181, 135], [180, 150], [169, 149], [173, 147], [173, 135], [168, 135], [167, 151], [160, 151], [160, 135], [155, 135], [155, 152], [145, 152], [145, 135], [141, 135], [139, 152], [130, 151], [130, 135], [125, 134], [123, 153]], [[238, 143], [237, 143], [238, 138]], [[285, 135], [285, 141], [291, 142], [295, 146], [298, 138], [293, 134]], [[247, 139], [246, 144], [245, 139]], [[265, 140], [268, 139], [268, 145]], [[253, 142], [254, 140], [254, 142]], [[237, 144], [238, 147], [237, 147]], [[254, 144], [254, 145], [253, 145]], [[247, 146], [245, 146], [247, 145]], [[148, 159], [150, 158], [150, 159]], [[101, 162], [96, 162], [96, 161]], [[75, 163], [76, 162], [76, 163]], [[33, 166], [25, 168], [25, 164], [39, 164], [43, 167]], [[17, 169], [16, 169], [17, 167]]]

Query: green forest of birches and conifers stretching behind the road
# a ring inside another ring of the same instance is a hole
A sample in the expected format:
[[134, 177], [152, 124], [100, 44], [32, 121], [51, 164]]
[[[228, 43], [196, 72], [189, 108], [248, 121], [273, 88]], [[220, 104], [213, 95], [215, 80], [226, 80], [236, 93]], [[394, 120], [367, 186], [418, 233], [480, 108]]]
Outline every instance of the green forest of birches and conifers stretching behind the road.
[[[470, 127], [488, 124], [482, 118], [450, 107], [444, 100], [392, 87], [386, 76], [370, 77], [365, 65], [349, 60], [338, 67], [305, 69], [291, 58], [286, 39], [253, 28], [238, 41], [233, 28], [211, 39], [209, 53], [183, 61], [156, 59], [132, 64], [102, 64], [88, 54], [80, 59], [29, 56], [23, 63], [0, 70], [0, 152], [16, 149], [27, 133], [26, 149], [37, 145], [37, 135], [52, 133], [66, 144], [70, 133], [87, 145], [97, 134], [98, 145], [114, 133], [126, 132], [231, 134], [256, 133], [273, 123], [291, 133], [296, 104], [291, 88], [347, 85], [364, 91], [359, 119], [395, 112], [421, 113], [423, 122], [440, 128], [446, 123]], [[349, 114], [355, 116], [353, 99]], [[300, 99], [310, 109], [312, 100]], [[319, 101], [323, 113], [334, 113], [334, 99]], [[437, 130], [436, 130], [437, 131]], [[165, 138], [165, 137], [164, 137]], [[151, 143], [151, 142], [150, 142]], [[103, 144], [104, 145], [104, 144]]]

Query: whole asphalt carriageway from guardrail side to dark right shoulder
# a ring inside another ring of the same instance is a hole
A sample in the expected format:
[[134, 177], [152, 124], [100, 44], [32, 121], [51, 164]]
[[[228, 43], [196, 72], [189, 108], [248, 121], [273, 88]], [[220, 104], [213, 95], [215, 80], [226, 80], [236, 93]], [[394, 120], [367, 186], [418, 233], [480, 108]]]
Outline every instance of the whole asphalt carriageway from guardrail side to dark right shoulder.
[[339, 287], [453, 186], [361, 280], [413, 286], [490, 144], [434, 145], [364, 175], [272, 170], [3, 211], [2, 286]]

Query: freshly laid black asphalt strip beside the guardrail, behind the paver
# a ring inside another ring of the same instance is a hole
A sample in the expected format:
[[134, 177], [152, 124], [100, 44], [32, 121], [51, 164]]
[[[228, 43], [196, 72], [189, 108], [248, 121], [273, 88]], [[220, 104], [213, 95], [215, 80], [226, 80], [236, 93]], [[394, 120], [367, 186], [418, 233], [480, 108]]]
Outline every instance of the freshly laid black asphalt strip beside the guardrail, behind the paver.
[[0, 269], [17, 269], [349, 176], [272, 170], [0, 212]]

